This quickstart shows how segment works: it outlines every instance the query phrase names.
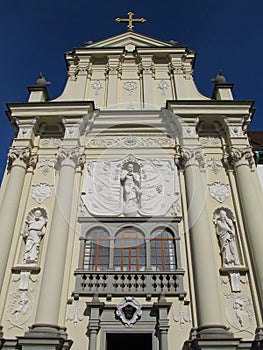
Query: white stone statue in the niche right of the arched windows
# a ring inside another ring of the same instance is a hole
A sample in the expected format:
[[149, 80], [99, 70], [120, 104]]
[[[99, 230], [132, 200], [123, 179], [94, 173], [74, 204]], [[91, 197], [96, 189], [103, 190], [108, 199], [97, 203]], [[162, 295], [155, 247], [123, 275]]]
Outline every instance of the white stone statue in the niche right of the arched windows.
[[219, 238], [223, 267], [240, 266], [239, 254], [236, 243], [234, 218], [220, 209], [214, 214], [216, 234]]

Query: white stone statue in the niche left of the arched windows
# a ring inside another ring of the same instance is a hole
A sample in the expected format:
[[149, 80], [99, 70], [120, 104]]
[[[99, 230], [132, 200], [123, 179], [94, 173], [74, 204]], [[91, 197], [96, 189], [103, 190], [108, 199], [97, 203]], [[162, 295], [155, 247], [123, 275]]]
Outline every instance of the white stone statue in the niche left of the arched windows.
[[47, 213], [43, 208], [36, 208], [29, 212], [26, 218], [27, 228], [23, 233], [25, 251], [23, 263], [36, 263], [39, 255], [39, 246], [46, 231]]

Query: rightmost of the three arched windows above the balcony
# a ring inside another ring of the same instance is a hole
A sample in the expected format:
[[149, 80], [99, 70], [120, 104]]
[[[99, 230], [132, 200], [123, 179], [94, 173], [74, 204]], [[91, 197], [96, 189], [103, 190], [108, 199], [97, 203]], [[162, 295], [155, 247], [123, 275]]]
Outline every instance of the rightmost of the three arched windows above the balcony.
[[151, 239], [151, 267], [154, 271], [175, 271], [175, 242], [168, 229], [157, 229]]

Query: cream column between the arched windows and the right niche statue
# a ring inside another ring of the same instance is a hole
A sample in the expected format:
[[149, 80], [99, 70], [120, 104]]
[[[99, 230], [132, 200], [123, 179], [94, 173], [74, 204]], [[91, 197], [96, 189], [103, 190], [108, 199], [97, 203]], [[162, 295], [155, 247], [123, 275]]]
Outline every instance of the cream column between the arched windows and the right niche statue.
[[206, 209], [206, 191], [202, 183], [204, 155], [199, 148], [182, 148], [190, 229], [190, 245], [200, 336], [226, 337], [221, 310], [218, 268], [215, 264], [210, 221]]

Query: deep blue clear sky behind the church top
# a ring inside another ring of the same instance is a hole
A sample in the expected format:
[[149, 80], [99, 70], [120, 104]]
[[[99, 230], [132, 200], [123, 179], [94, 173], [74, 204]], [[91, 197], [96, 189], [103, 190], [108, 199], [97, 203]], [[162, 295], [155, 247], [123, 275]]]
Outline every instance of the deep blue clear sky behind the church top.
[[201, 93], [212, 95], [210, 79], [222, 69], [235, 99], [256, 101], [250, 130], [263, 130], [262, 0], [2, 0], [0, 178], [13, 137], [6, 103], [26, 102], [39, 72], [52, 83], [50, 98], [59, 96], [67, 79], [64, 52], [126, 31], [115, 18], [129, 11], [147, 19], [135, 31], [197, 52], [194, 79]]

